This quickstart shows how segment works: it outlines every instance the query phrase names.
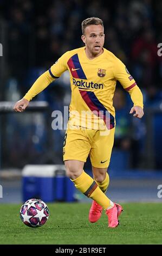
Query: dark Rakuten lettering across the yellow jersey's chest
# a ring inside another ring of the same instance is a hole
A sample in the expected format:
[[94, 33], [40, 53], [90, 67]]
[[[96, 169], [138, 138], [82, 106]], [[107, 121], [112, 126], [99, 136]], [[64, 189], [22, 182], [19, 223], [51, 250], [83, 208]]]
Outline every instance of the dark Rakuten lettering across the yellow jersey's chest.
[[73, 78], [73, 85], [77, 86], [79, 89], [103, 89], [104, 87], [103, 83], [87, 82], [82, 79], [76, 81], [75, 78]]

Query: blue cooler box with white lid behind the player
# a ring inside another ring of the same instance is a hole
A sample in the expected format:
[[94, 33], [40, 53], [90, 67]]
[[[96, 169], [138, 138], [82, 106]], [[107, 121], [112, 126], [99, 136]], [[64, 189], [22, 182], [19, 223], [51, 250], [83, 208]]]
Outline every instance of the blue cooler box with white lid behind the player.
[[74, 202], [75, 190], [63, 164], [29, 164], [22, 170], [23, 202], [30, 198], [40, 198], [44, 202]]

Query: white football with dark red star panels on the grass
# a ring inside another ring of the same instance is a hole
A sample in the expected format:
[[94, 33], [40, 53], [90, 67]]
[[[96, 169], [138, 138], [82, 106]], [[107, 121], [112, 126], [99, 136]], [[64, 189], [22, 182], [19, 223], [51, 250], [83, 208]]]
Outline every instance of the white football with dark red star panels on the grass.
[[30, 228], [42, 227], [49, 218], [49, 209], [42, 200], [32, 198], [21, 206], [20, 217], [22, 222]]

